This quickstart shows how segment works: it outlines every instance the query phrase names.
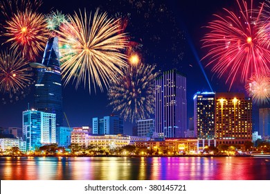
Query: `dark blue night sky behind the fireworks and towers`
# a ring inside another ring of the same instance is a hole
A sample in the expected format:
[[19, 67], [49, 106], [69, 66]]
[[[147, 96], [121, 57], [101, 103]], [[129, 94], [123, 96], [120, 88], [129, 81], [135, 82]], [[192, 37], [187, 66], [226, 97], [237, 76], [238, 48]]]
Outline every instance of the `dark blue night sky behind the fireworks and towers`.
[[[258, 3], [258, 2], [257, 2]], [[143, 62], [156, 64], [157, 71], [178, 69], [187, 76], [188, 118], [193, 116], [193, 95], [197, 91], [210, 91], [208, 82], [196, 60], [201, 60], [206, 50], [201, 48], [201, 38], [206, 33], [206, 26], [213, 19], [213, 14], [222, 12], [222, 8], [237, 8], [235, 0], [216, 1], [44, 1], [39, 12], [48, 14], [52, 10], [61, 10], [64, 14], [73, 14], [79, 9], [95, 12], [107, 11], [109, 16], [122, 15], [129, 18], [126, 33], [135, 42], [141, 44], [139, 52]], [[1, 22], [3, 18], [1, 19]], [[1, 46], [4, 47], [4, 45]], [[194, 49], [192, 49], [194, 48]], [[43, 53], [41, 53], [42, 55]], [[210, 68], [205, 68], [206, 61], [201, 61], [213, 91], [228, 91], [226, 78], [217, 79]], [[243, 84], [233, 85], [231, 91], [245, 92]], [[21, 127], [22, 112], [28, 103], [33, 107], [34, 87], [28, 95], [10, 103], [1, 96], [0, 127]], [[1, 94], [2, 95], [2, 94]], [[5, 104], [6, 102], [6, 104]], [[108, 106], [107, 90], [89, 94], [88, 86], [77, 90], [75, 85], [63, 88], [64, 112], [71, 127], [91, 125], [93, 117], [107, 116], [112, 113]], [[255, 107], [255, 130], [258, 130]], [[117, 114], [117, 113], [116, 113]], [[154, 118], [154, 115], [152, 116]], [[66, 123], [66, 122], [64, 122]], [[125, 122], [126, 134], [132, 132], [132, 123]]]

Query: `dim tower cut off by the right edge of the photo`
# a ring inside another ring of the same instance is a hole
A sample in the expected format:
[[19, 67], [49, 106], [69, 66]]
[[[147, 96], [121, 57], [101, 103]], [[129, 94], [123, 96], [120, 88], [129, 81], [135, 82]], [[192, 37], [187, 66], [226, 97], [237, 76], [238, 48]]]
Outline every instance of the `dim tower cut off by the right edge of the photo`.
[[259, 109], [259, 134], [267, 140], [270, 136], [270, 108]]

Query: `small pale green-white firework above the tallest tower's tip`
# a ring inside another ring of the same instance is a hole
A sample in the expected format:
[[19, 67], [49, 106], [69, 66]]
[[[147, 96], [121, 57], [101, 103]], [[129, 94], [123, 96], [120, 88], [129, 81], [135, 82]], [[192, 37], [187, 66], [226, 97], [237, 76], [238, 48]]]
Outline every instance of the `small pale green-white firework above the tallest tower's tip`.
[[49, 30], [59, 30], [62, 24], [68, 21], [66, 15], [62, 14], [61, 11], [56, 10], [56, 12], [51, 12], [51, 14], [46, 15], [47, 28]]

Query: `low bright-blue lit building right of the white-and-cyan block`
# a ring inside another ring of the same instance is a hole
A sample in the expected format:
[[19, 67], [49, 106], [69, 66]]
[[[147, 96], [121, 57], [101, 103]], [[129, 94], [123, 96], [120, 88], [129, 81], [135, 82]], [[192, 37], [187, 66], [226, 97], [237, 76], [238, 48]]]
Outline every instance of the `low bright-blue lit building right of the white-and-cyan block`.
[[71, 127], [56, 127], [56, 143], [58, 146], [67, 148], [71, 145]]

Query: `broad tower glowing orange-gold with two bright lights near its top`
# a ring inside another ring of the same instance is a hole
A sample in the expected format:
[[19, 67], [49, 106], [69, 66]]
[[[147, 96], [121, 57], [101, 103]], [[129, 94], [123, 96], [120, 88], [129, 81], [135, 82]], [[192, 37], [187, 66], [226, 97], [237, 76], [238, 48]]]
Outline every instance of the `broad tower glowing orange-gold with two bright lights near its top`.
[[217, 144], [243, 144], [252, 140], [252, 100], [242, 93], [215, 94]]

